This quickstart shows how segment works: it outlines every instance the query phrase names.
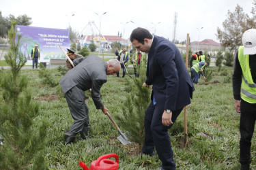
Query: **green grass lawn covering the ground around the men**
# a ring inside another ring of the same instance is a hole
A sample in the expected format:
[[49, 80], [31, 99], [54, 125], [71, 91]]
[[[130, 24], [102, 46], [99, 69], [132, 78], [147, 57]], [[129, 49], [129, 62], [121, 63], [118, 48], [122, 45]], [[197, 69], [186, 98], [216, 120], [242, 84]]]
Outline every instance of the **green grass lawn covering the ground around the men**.
[[[224, 68], [224, 67], [223, 67]], [[231, 67], [225, 67], [229, 74]], [[173, 128], [169, 131], [173, 146], [174, 159], [177, 169], [240, 169], [239, 163], [239, 121], [240, 114], [234, 109], [234, 99], [231, 82], [225, 82], [217, 67], [210, 67], [213, 78], [210, 84], [204, 85], [199, 80], [195, 86], [193, 100], [187, 106], [188, 146], [180, 148], [180, 139], [184, 137], [184, 112], [177, 118]], [[61, 79], [57, 69], [50, 70], [56, 81]], [[132, 68], [128, 68], [130, 74]], [[122, 74], [122, 71], [120, 71]], [[42, 85], [38, 78], [38, 70], [22, 70], [27, 75], [29, 88], [34, 101], [46, 95], [57, 93], [59, 86], [51, 88]], [[134, 75], [132, 75], [134, 76]], [[128, 76], [126, 76], [128, 78]], [[218, 80], [218, 84], [214, 84]], [[125, 78], [108, 76], [108, 82], [101, 88], [102, 102], [115, 117], [122, 114], [121, 105], [127, 96], [124, 87]], [[141, 158], [138, 149], [132, 146], [122, 146], [117, 140], [119, 133], [109, 118], [101, 110], [97, 110], [90, 97], [90, 92], [85, 92], [89, 99], [89, 123], [91, 124], [90, 139], [81, 140], [77, 135], [76, 142], [65, 145], [63, 138], [66, 129], [70, 129], [73, 119], [68, 109], [66, 99], [60, 97], [56, 101], [38, 101], [40, 103], [40, 116], [34, 119], [38, 124], [42, 118], [48, 120], [48, 135], [44, 149], [45, 161], [48, 169], [81, 169], [79, 162], [90, 165], [103, 154], [116, 153], [119, 156], [119, 169], [156, 169], [160, 167], [158, 156]], [[0, 101], [3, 101], [0, 89]], [[144, 113], [141, 113], [144, 114]], [[117, 123], [118, 124], [118, 123]], [[122, 124], [118, 124], [123, 132]], [[35, 125], [36, 126], [36, 125]], [[210, 137], [201, 137], [198, 133], [207, 133]], [[38, 141], [40, 142], [40, 141]], [[256, 137], [253, 136], [251, 156], [253, 162], [251, 169], [256, 169]]]

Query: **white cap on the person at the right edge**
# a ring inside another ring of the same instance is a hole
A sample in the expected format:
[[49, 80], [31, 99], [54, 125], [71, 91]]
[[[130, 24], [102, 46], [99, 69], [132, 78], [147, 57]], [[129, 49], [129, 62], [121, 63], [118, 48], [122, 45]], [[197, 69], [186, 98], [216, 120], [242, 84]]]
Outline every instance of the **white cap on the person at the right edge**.
[[256, 54], [256, 29], [248, 29], [242, 35], [244, 55]]

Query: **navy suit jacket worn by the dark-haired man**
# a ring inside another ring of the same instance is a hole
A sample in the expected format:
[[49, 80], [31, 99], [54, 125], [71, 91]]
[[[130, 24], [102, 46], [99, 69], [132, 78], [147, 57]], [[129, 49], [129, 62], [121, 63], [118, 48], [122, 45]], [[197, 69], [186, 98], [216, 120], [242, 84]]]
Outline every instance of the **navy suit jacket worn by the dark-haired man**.
[[154, 95], [161, 112], [190, 104], [195, 90], [180, 51], [171, 41], [156, 35], [148, 53], [145, 83], [153, 85], [151, 98]]

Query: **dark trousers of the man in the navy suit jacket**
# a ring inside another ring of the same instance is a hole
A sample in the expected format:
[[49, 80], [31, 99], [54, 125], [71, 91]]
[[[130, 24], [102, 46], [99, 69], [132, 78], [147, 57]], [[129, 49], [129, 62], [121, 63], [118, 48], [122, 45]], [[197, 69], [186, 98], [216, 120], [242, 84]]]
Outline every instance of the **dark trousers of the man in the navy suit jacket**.
[[[173, 111], [171, 120], [175, 122], [177, 116], [180, 115], [182, 109]], [[153, 102], [150, 103], [145, 112], [145, 142], [142, 148], [144, 154], [151, 154], [156, 148], [158, 157], [162, 161], [162, 168], [175, 169], [175, 161], [173, 160], [173, 150], [171, 148], [170, 136], [168, 129], [173, 126], [164, 126], [162, 124], [162, 113]]]

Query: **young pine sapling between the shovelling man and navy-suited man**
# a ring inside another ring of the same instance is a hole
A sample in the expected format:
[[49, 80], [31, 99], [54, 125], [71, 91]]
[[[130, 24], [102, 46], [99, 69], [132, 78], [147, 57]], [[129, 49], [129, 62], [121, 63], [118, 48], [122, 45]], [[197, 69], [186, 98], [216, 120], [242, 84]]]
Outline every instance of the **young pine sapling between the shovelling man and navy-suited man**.
[[122, 116], [116, 118], [119, 124], [122, 124], [122, 128], [128, 131], [130, 141], [138, 143], [140, 148], [144, 142], [145, 111], [150, 102], [150, 90], [142, 86], [146, 78], [145, 70], [145, 64], [142, 63], [137, 69], [139, 78], [134, 78], [132, 81], [126, 77], [126, 81], [129, 82], [126, 84], [129, 86], [126, 88], [129, 92], [125, 101], [127, 104], [122, 107]]

